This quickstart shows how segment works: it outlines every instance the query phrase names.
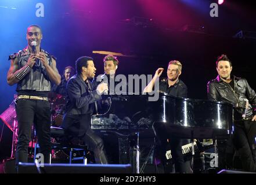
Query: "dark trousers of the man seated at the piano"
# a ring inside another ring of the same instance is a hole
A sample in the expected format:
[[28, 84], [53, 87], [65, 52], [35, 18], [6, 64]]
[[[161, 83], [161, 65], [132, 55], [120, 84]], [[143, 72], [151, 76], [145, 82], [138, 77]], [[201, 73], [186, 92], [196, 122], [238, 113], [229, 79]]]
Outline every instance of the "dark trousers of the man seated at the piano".
[[88, 149], [93, 151], [95, 161], [99, 164], [107, 164], [103, 140], [92, 131], [90, 127], [91, 115], [65, 115], [62, 128], [69, 140], [81, 139]]

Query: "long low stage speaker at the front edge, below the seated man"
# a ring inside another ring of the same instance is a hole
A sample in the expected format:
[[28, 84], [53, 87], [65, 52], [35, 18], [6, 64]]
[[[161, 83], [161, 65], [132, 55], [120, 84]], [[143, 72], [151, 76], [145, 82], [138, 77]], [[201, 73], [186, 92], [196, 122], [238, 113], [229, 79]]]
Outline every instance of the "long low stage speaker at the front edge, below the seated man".
[[132, 168], [129, 164], [44, 164], [44, 168], [37, 168], [20, 163], [19, 173], [132, 173]]

